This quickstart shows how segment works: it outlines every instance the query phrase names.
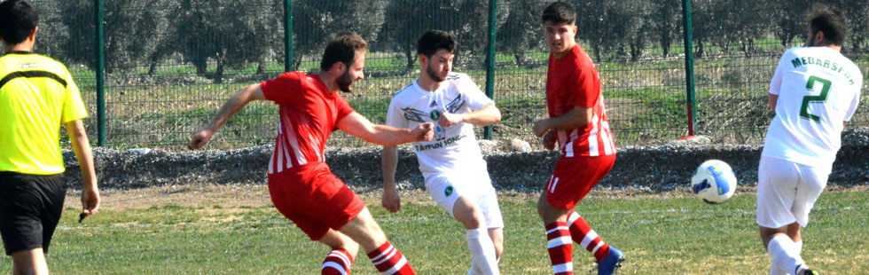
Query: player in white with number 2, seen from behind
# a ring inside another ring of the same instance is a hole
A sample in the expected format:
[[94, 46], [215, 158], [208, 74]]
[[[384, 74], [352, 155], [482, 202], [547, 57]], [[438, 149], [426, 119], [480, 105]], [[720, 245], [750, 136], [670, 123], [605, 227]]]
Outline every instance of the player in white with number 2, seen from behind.
[[770, 83], [775, 111], [761, 153], [757, 224], [770, 274], [818, 274], [802, 260], [801, 227], [826, 186], [842, 129], [857, 110], [863, 76], [842, 56], [842, 11], [816, 4], [805, 47], [785, 52]]

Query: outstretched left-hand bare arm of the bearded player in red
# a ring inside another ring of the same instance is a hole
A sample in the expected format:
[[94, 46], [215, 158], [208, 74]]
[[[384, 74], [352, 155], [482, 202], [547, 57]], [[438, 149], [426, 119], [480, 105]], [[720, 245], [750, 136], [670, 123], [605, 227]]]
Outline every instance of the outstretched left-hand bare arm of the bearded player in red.
[[211, 141], [211, 138], [214, 137], [215, 131], [223, 125], [223, 122], [228, 121], [232, 115], [239, 113], [241, 108], [254, 100], [266, 100], [265, 95], [262, 94], [260, 84], [249, 85], [236, 92], [235, 95], [232, 95], [220, 107], [220, 110], [215, 114], [215, 118], [208, 123], [208, 126], [193, 133], [193, 139], [188, 146], [193, 150], [199, 150], [207, 145]]

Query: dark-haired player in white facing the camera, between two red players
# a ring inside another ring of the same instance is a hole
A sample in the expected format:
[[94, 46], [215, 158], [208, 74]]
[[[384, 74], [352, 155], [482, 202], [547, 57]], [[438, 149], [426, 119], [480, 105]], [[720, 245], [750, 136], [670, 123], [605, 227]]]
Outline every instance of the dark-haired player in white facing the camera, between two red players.
[[[499, 274], [504, 222], [486, 161], [474, 138], [474, 125], [501, 120], [495, 103], [465, 74], [450, 73], [456, 42], [442, 31], [419, 37], [419, 78], [398, 91], [389, 104], [387, 125], [413, 128], [436, 122], [435, 138], [415, 142], [419, 170], [432, 199], [465, 225], [472, 263], [468, 274]], [[397, 148], [383, 148], [383, 207], [395, 213]]]

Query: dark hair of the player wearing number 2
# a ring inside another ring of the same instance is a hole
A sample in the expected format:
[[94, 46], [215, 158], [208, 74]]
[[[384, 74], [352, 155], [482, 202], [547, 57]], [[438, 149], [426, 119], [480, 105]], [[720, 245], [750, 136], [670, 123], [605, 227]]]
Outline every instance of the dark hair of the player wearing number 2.
[[807, 17], [811, 34], [824, 33], [824, 43], [841, 46], [848, 35], [848, 21], [845, 13], [826, 4], [815, 4]]

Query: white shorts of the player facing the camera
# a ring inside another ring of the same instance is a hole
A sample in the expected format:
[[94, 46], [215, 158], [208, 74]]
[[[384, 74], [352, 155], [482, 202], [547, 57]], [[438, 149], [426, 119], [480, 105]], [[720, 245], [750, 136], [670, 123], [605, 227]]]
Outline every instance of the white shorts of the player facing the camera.
[[[480, 175], [482, 174], [482, 175]], [[501, 208], [497, 206], [497, 193], [486, 173], [441, 173], [426, 177], [426, 190], [450, 216], [458, 197], [476, 202], [486, 219], [487, 228], [504, 228]]]

